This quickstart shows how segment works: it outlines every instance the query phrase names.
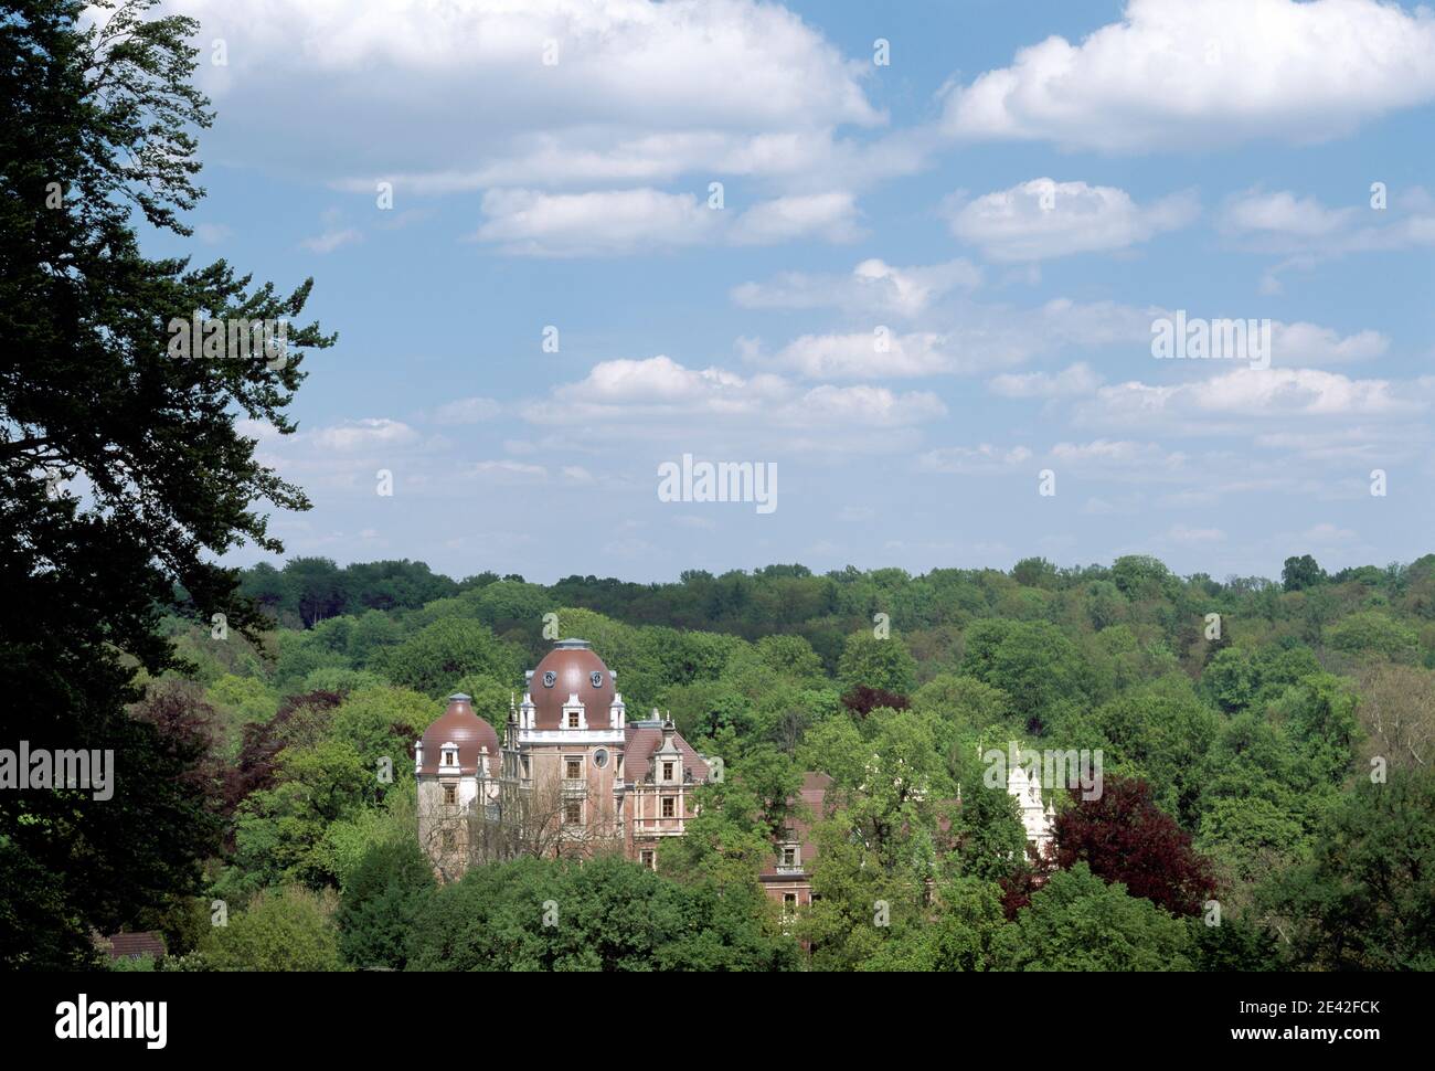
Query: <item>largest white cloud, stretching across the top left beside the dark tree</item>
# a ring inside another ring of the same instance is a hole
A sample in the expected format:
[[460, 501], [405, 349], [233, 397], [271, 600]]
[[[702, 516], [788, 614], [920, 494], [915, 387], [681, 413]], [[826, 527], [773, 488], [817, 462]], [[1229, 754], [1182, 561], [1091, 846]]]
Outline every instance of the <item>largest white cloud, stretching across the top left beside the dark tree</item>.
[[[228, 66], [201, 63], [221, 146], [263, 138], [296, 174], [373, 194], [653, 184], [682, 174], [788, 179], [917, 165], [841, 126], [885, 122], [847, 59], [755, 0], [172, 0]], [[545, 63], [550, 42], [555, 46]], [[290, 105], [303, 99], [306, 108]], [[488, 106], [502, 100], [501, 108]], [[478, 102], [475, 105], [475, 102]], [[885, 155], [885, 158], [884, 158]], [[832, 165], [838, 165], [834, 168]]]

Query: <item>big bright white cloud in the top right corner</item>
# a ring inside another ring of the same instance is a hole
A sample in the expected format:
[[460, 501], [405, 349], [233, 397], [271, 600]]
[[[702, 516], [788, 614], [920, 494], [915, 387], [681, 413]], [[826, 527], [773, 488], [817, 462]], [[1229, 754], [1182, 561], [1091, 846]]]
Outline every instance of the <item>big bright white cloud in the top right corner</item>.
[[946, 96], [960, 138], [1112, 151], [1316, 142], [1435, 99], [1435, 19], [1376, 0], [1129, 0]]

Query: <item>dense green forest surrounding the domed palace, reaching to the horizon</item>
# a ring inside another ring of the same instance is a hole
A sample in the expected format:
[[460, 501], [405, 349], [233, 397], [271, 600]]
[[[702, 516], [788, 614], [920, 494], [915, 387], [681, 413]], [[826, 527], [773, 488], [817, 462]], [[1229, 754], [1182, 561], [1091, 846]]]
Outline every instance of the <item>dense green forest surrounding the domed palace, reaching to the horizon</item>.
[[[1435, 966], [1435, 556], [1336, 576], [1290, 558], [1279, 583], [1149, 557], [657, 586], [309, 560], [245, 583], [284, 576], [294, 606], [326, 576], [352, 612], [253, 643], [172, 617], [191, 670], [136, 708], [205, 726], [225, 830], [207, 880], [228, 925], [208, 900], [149, 917], [174, 966]], [[369, 604], [429, 583], [438, 597]], [[521, 860], [441, 889], [415, 843], [412, 741], [453, 691], [499, 726], [561, 636], [728, 780], [656, 876]], [[1104, 757], [1096, 798], [1046, 792], [1042, 859], [987, 777], [1013, 742]], [[821, 814], [794, 803], [806, 770], [832, 778]], [[819, 899], [782, 917], [756, 876], [792, 821], [812, 824]], [[613, 946], [596, 920], [617, 902], [631, 936]]]

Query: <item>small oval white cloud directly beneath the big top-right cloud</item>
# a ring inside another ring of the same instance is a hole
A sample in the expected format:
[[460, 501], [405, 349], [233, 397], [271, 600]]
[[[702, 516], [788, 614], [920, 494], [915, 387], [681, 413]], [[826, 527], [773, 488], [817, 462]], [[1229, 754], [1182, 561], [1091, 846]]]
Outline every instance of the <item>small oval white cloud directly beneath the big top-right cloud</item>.
[[1115, 187], [1033, 178], [967, 201], [946, 202], [951, 233], [992, 260], [1026, 261], [1121, 250], [1185, 227], [1200, 212], [1191, 194], [1142, 207]]

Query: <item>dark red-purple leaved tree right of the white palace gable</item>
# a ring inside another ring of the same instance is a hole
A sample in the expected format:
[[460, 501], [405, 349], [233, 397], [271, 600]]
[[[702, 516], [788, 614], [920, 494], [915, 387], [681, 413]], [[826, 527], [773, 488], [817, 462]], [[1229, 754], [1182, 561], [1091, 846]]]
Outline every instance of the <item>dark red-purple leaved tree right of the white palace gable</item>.
[[1095, 800], [1078, 794], [1056, 815], [1052, 833], [1056, 866], [1085, 863], [1098, 877], [1172, 915], [1195, 915], [1215, 892], [1211, 864], [1151, 801], [1145, 781], [1109, 777]]

